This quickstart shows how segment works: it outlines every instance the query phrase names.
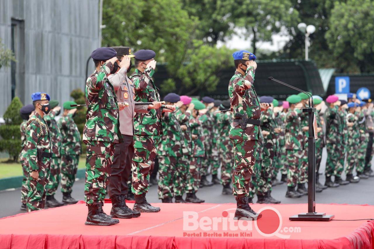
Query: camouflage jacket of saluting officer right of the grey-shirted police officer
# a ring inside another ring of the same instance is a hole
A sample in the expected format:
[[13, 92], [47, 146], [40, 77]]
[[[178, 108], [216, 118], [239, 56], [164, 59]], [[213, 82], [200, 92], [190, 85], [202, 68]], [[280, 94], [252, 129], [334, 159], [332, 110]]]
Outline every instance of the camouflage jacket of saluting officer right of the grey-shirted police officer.
[[[141, 73], [135, 69], [130, 79], [135, 88], [135, 101], [152, 102], [160, 101], [160, 95], [152, 80], [154, 70], [148, 68]], [[135, 135], [160, 135], [162, 134], [161, 108], [151, 109], [148, 113], [135, 113], [134, 130]]]

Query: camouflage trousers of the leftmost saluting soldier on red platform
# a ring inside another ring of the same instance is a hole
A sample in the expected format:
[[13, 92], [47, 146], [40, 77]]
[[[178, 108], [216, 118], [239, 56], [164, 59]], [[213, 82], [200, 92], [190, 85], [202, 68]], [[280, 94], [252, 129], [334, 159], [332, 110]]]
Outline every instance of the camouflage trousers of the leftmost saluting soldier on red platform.
[[85, 141], [86, 157], [86, 205], [103, 203], [105, 188], [109, 181], [110, 167], [113, 162], [114, 144], [102, 141]]

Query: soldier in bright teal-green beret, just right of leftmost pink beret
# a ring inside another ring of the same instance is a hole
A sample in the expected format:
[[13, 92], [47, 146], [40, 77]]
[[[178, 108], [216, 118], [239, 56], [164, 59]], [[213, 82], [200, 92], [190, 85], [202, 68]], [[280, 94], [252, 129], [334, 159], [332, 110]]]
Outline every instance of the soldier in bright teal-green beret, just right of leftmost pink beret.
[[[191, 138], [192, 138], [192, 157], [190, 160], [190, 178], [187, 182], [186, 187], [186, 202], [190, 203], [202, 203], [205, 200], [199, 199], [196, 196], [196, 192], [199, 190], [200, 186], [200, 169], [202, 167], [202, 160], [205, 156], [205, 136], [202, 128], [202, 123], [206, 122], [206, 109], [205, 105], [196, 100], [192, 100], [191, 104], [194, 106], [192, 111], [193, 119], [190, 119], [189, 126], [191, 128]], [[190, 105], [191, 105], [190, 104]]]

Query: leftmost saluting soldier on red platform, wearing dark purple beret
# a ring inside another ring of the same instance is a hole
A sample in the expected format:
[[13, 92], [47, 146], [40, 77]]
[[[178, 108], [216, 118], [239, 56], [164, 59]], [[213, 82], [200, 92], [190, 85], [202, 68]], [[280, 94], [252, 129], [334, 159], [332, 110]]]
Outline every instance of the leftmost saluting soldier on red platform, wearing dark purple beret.
[[117, 71], [116, 51], [100, 47], [91, 54], [96, 70], [86, 81], [86, 124], [83, 141], [87, 145], [85, 201], [88, 206], [86, 225], [119, 223], [102, 210], [105, 187], [113, 162], [114, 144], [122, 142], [119, 132], [119, 110], [116, 94], [107, 76]]

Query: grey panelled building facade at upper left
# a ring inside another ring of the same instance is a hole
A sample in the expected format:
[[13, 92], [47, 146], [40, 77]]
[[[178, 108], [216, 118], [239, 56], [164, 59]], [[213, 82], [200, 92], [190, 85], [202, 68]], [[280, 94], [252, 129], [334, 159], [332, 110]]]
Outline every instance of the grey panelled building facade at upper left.
[[84, 90], [87, 59], [99, 46], [99, 0], [0, 0], [0, 38], [17, 59], [0, 68], [0, 117], [14, 96], [31, 104], [33, 92], [62, 105]]

